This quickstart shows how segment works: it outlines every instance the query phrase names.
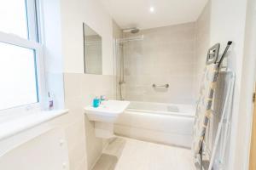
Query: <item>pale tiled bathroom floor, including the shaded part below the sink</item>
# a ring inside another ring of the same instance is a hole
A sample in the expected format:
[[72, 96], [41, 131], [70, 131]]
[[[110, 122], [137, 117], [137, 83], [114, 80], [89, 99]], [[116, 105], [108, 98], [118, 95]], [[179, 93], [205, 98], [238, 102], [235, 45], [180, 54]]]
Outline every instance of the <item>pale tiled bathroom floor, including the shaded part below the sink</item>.
[[194, 170], [191, 150], [126, 138], [113, 140], [94, 168], [105, 169]]

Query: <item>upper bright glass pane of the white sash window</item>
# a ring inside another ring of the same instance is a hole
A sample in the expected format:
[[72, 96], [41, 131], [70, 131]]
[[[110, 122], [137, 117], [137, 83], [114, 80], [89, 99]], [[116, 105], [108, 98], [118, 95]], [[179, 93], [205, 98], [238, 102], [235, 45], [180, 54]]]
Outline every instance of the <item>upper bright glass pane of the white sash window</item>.
[[4, 0], [0, 5], [0, 31], [28, 37], [26, 1]]

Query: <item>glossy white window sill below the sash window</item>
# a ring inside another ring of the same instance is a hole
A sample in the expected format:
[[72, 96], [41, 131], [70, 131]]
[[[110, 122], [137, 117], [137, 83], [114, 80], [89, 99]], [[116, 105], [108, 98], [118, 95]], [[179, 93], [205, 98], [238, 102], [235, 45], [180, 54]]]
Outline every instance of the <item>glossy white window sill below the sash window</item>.
[[68, 110], [39, 111], [14, 120], [9, 120], [8, 122], [3, 122], [0, 124], [0, 141], [67, 113]]

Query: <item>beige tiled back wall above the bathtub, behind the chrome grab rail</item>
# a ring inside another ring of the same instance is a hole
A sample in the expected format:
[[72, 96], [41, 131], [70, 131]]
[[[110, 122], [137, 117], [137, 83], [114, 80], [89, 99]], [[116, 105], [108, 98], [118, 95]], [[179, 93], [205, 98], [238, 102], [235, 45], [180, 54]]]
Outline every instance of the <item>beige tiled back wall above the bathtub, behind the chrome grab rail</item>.
[[[125, 42], [125, 99], [194, 104], [195, 23], [125, 34], [143, 41]], [[170, 88], [152, 88], [168, 83]]]

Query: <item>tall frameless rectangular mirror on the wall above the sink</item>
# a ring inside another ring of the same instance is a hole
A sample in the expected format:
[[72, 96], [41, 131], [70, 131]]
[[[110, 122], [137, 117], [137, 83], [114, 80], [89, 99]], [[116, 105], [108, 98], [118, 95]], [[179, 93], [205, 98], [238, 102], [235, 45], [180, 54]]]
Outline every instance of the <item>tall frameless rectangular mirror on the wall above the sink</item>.
[[85, 23], [84, 73], [102, 75], [102, 37]]

